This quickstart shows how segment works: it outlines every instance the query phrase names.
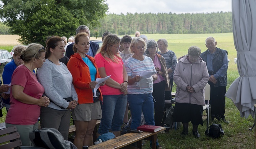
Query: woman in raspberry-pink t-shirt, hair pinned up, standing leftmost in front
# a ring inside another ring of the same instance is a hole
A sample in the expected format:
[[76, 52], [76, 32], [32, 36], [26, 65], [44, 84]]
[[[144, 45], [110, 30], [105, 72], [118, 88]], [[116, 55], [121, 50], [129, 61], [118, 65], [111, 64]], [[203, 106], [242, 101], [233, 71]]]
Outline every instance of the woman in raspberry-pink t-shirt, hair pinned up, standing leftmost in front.
[[44, 87], [37, 81], [35, 68], [45, 62], [45, 48], [32, 43], [21, 52], [24, 64], [15, 69], [11, 77], [10, 109], [6, 115], [6, 127], [16, 126], [22, 145], [32, 146], [29, 132], [38, 128], [40, 106], [48, 106], [48, 97], [42, 97]]

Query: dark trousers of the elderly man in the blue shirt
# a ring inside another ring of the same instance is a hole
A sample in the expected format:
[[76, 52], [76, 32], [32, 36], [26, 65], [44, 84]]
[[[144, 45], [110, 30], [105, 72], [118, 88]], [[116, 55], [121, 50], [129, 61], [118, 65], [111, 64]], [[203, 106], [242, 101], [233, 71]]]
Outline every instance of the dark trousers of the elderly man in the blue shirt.
[[227, 92], [225, 86], [214, 87], [212, 82], [208, 82], [211, 86], [211, 112], [212, 112], [212, 120], [214, 117], [216, 119], [224, 119], [225, 116], [225, 94]]

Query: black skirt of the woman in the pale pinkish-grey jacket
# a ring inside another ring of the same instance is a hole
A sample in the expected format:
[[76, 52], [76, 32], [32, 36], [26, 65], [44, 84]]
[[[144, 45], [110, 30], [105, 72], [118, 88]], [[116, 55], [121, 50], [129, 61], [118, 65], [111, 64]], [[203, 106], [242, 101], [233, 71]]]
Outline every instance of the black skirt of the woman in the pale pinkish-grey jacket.
[[203, 106], [190, 103], [176, 103], [173, 112], [173, 122], [188, 123], [203, 126]]

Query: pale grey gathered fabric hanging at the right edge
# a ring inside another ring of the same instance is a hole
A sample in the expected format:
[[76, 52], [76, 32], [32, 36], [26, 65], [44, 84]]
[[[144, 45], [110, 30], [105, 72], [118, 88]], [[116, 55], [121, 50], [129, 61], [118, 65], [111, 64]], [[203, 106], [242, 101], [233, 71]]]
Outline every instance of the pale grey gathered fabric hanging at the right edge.
[[256, 103], [256, 0], [232, 0], [234, 44], [240, 77], [227, 90], [241, 117], [254, 116]]

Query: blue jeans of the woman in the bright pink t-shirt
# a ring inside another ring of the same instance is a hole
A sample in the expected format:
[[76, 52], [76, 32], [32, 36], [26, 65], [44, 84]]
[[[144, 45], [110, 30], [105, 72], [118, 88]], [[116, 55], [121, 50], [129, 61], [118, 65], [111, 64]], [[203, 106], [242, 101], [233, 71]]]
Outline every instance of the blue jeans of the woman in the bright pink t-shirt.
[[98, 130], [100, 135], [109, 132], [109, 129], [113, 132], [121, 130], [126, 104], [127, 95], [103, 95], [102, 119]]

